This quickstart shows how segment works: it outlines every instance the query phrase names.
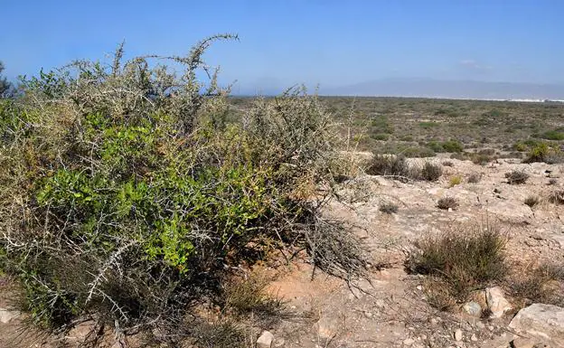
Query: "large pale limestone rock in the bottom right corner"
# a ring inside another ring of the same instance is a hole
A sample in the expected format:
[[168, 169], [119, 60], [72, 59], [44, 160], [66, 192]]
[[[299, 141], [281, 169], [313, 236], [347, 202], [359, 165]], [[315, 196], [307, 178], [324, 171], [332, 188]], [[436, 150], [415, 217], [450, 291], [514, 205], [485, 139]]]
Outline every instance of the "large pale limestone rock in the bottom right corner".
[[564, 346], [564, 308], [533, 304], [513, 317], [509, 327], [518, 333], [534, 337], [543, 343]]

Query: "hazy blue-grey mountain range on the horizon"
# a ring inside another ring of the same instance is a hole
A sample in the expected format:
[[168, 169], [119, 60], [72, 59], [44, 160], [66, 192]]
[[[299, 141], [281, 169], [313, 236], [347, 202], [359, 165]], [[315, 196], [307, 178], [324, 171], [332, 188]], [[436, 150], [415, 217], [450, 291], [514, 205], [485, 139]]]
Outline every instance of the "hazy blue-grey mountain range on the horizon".
[[422, 97], [447, 99], [564, 100], [564, 85], [475, 80], [382, 79], [319, 90], [326, 96]]

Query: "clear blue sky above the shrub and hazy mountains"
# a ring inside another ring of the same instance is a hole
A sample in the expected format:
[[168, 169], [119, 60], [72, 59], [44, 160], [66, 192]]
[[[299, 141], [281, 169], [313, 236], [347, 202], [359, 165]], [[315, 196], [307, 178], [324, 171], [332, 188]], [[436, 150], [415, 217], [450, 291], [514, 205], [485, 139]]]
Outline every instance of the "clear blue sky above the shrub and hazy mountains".
[[[79, 58], [182, 54], [238, 33], [206, 55], [237, 89], [384, 78], [564, 83], [561, 0], [1, 0], [5, 75]], [[234, 90], [237, 91], [237, 90]]]

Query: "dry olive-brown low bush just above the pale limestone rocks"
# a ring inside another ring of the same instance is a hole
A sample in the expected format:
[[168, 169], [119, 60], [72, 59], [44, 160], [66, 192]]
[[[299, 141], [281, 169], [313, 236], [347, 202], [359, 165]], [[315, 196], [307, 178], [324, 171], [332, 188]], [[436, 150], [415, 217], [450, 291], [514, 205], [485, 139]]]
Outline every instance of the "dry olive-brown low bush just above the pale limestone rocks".
[[470, 291], [503, 279], [507, 270], [505, 242], [504, 236], [492, 226], [485, 229], [480, 224], [461, 226], [415, 242], [406, 267], [412, 273], [441, 279], [431, 285], [446, 289], [431, 287], [427, 292], [453, 296], [460, 303]]

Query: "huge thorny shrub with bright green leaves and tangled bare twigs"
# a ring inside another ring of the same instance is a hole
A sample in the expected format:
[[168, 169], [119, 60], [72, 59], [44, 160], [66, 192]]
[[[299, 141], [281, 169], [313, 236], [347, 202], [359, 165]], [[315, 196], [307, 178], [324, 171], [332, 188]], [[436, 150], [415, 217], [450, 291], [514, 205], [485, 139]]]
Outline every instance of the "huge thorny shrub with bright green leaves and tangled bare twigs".
[[334, 177], [330, 118], [296, 88], [228, 122], [229, 89], [202, 54], [233, 38], [161, 57], [181, 75], [149, 57], [124, 62], [120, 46], [111, 65], [75, 61], [2, 101], [2, 262], [36, 323], [90, 315], [165, 334], [191, 304], [219, 297], [231, 266], [276, 247], [362, 276], [362, 243], [319, 213]]

